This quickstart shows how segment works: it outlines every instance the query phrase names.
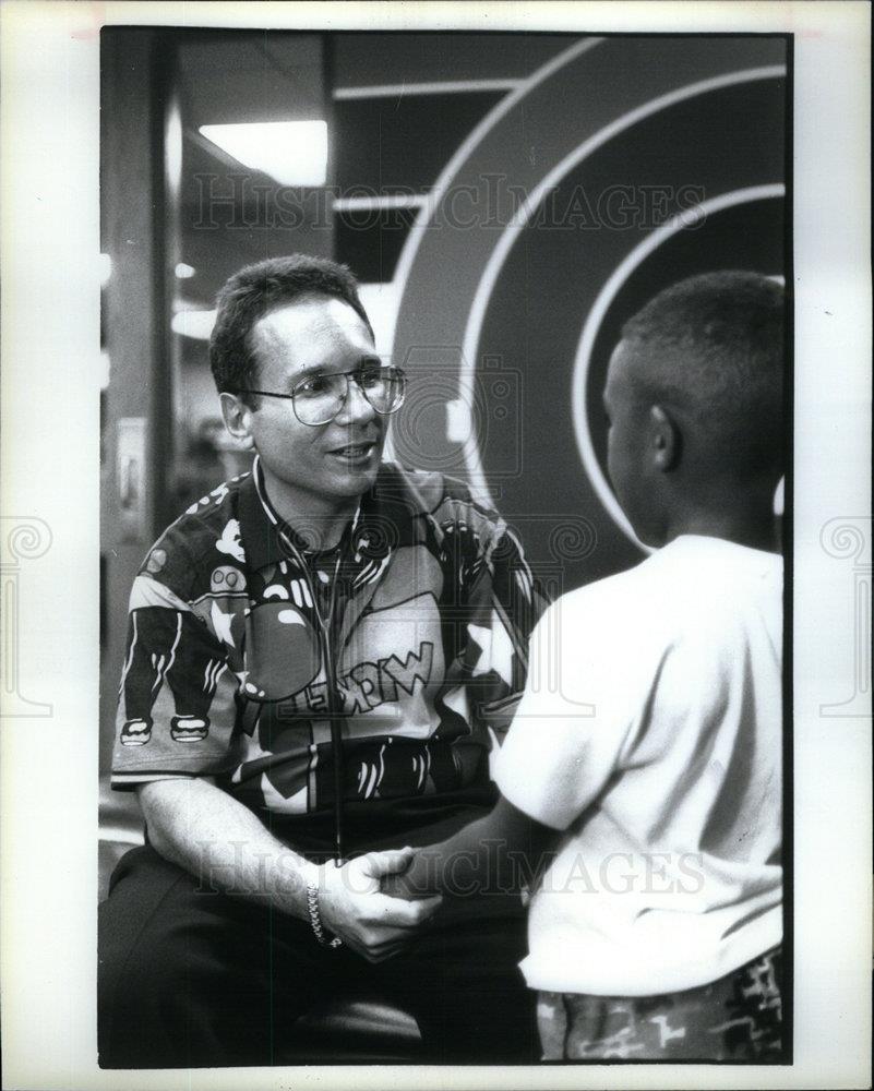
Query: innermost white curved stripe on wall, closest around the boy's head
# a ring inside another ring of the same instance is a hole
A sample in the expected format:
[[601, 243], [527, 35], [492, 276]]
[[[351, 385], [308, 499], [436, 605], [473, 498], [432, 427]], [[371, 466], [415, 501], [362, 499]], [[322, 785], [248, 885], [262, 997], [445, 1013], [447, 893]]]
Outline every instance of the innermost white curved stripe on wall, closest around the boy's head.
[[721, 193], [717, 197], [704, 201], [692, 208], [685, 208], [672, 219], [662, 224], [661, 227], [648, 235], [643, 242], [638, 243], [630, 254], [616, 266], [608, 281], [598, 293], [591, 310], [588, 313], [586, 323], [583, 326], [583, 334], [579, 338], [579, 347], [574, 361], [574, 374], [571, 384], [571, 405], [574, 415], [574, 434], [576, 445], [579, 448], [579, 457], [588, 475], [598, 499], [607, 508], [613, 521], [639, 549], [651, 553], [652, 550], [645, 546], [632, 530], [631, 524], [625, 517], [625, 513], [619, 506], [616, 497], [608, 483], [607, 477], [601, 470], [601, 465], [595, 454], [595, 446], [589, 433], [588, 416], [586, 413], [586, 381], [591, 362], [591, 350], [595, 347], [595, 339], [601, 327], [604, 315], [610, 309], [610, 304], [615, 299], [622, 286], [634, 273], [638, 265], [644, 262], [665, 241], [677, 235], [692, 224], [699, 223], [714, 213], [723, 208], [733, 208], [735, 205], [750, 204], [753, 201], [766, 201], [771, 197], [781, 197], [786, 194], [786, 187], [781, 183], [770, 185], [750, 185], [743, 190], [733, 190], [731, 193]]

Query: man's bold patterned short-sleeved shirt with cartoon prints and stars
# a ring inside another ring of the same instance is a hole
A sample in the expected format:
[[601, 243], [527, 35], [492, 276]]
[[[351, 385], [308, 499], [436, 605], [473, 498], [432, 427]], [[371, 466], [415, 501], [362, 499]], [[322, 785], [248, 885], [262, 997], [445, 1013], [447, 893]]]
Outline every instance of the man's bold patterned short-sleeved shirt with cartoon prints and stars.
[[[503, 520], [384, 464], [335, 550], [311, 552], [258, 460], [149, 551], [130, 601], [112, 784], [201, 776], [294, 829], [334, 804], [395, 825], [490, 805], [489, 753], [542, 601]], [[402, 818], [403, 816], [403, 818]]]

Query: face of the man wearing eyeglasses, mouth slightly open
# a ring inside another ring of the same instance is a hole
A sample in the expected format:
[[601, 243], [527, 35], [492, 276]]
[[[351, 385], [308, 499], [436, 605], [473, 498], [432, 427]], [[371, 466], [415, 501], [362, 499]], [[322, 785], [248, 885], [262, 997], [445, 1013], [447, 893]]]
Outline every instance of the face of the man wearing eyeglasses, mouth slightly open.
[[[278, 307], [252, 328], [258, 360], [250, 385], [289, 394], [303, 379], [354, 371], [378, 360], [373, 339], [348, 303], [310, 296]], [[359, 496], [376, 479], [386, 417], [370, 406], [355, 382], [327, 424], [301, 424], [287, 398], [261, 397], [247, 417], [274, 503], [298, 514], [321, 513]]]

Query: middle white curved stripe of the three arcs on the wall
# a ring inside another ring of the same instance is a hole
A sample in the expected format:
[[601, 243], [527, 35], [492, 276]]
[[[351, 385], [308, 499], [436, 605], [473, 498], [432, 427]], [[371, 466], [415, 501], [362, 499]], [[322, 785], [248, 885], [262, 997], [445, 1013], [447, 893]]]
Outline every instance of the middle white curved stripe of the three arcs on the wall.
[[[603, 40], [603, 39], [595, 39]], [[558, 58], [556, 58], [558, 60]], [[528, 220], [531, 218], [534, 213], [539, 207], [541, 201], [546, 194], [555, 187], [571, 170], [579, 166], [584, 159], [586, 159], [592, 152], [597, 151], [603, 144], [606, 144], [613, 136], [623, 132], [625, 129], [630, 129], [632, 125], [642, 121], [644, 118], [648, 118], [654, 113], [667, 109], [677, 103], [682, 103], [685, 99], [694, 98], [696, 95], [703, 95], [710, 91], [717, 91], [721, 87], [730, 87], [734, 84], [740, 83], [752, 83], [756, 80], [774, 80], [778, 76], [786, 75], [785, 64], [768, 64], [762, 68], [755, 69], [744, 69], [740, 72], [727, 72], [722, 75], [710, 76], [707, 80], [698, 80], [695, 83], [686, 84], [684, 87], [678, 87], [674, 91], [670, 91], [665, 95], [659, 95], [657, 98], [650, 99], [648, 103], [644, 103], [642, 106], [635, 107], [635, 109], [630, 110], [627, 113], [623, 113], [621, 117], [611, 121], [610, 124], [604, 125], [597, 133], [590, 136], [588, 140], [584, 141], [572, 152], [570, 152], [563, 159], [561, 159], [553, 168], [550, 170], [538, 183], [536, 189], [531, 191], [526, 201], [519, 207], [518, 213], [513, 217], [513, 219], [504, 228], [503, 233], [498, 240], [498, 244], [492, 251], [491, 256], [483, 269], [482, 276], [480, 277], [479, 285], [477, 286], [476, 295], [474, 296], [474, 301], [470, 307], [470, 313], [467, 320], [467, 326], [465, 327], [465, 336], [462, 346], [462, 364], [459, 373], [459, 398], [464, 399], [466, 395], [474, 388], [474, 375], [476, 373], [476, 358], [477, 348], [479, 346], [479, 338], [482, 332], [482, 322], [486, 316], [486, 310], [489, 305], [489, 300], [491, 299], [492, 291], [498, 281], [498, 277], [501, 275], [501, 269], [516, 242], [516, 239], [522, 233], [523, 229], [527, 225]], [[523, 88], [519, 87], [519, 92]], [[514, 97], [514, 96], [511, 96]], [[505, 99], [504, 101], [508, 101]], [[503, 104], [501, 104], [503, 105]], [[418, 226], [421, 218], [426, 215], [430, 215], [429, 208], [423, 208], [420, 213], [420, 218], [417, 219], [416, 225]], [[689, 216], [689, 209], [683, 214]], [[667, 225], [663, 225], [667, 226]], [[682, 226], [682, 225], [680, 225]], [[424, 226], [422, 225], [422, 230]], [[678, 227], [679, 230], [679, 227]], [[421, 233], [421, 232], [420, 232]], [[418, 244], [418, 241], [417, 241]], [[402, 254], [402, 257], [404, 255]], [[406, 271], [408, 273], [408, 271]], [[468, 403], [468, 413], [472, 422], [472, 406]], [[483, 502], [488, 504], [493, 504], [491, 499], [491, 492], [486, 481], [486, 475], [482, 467], [482, 461], [480, 459], [479, 451], [471, 444], [466, 444], [464, 446], [465, 461], [467, 464], [467, 470], [470, 479], [470, 484], [475, 489], [478, 496], [483, 499]], [[612, 493], [611, 493], [612, 495]], [[634, 539], [636, 540], [636, 539]]]

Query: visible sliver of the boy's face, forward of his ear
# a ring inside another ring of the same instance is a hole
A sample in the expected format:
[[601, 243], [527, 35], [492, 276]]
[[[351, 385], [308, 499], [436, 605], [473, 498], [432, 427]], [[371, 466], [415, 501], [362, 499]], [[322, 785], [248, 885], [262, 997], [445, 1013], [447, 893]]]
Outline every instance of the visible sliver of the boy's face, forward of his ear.
[[626, 346], [620, 341], [607, 371], [607, 472], [634, 532], [642, 541], [655, 544], [651, 524], [656, 497], [646, 458], [646, 406], [636, 394], [628, 357]]

